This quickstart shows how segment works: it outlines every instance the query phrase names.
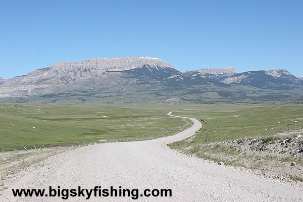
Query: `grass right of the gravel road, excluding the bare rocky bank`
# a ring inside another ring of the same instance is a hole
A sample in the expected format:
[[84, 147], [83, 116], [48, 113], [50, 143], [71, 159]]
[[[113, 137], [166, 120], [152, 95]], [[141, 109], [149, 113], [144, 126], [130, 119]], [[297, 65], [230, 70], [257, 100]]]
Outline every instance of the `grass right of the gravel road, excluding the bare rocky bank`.
[[[214, 109], [217, 107], [217, 109]], [[222, 109], [224, 108], [224, 109]], [[179, 149], [185, 154], [195, 154], [199, 158], [214, 162], [224, 162], [225, 165], [242, 166], [253, 170], [266, 168], [269, 162], [276, 162], [284, 172], [284, 166], [290, 162], [302, 165], [301, 158], [290, 157], [277, 159], [275, 156], [247, 156], [237, 145], [228, 146], [221, 141], [245, 137], [256, 137], [263, 143], [283, 140], [285, 136], [277, 136], [279, 132], [299, 130], [303, 128], [302, 106], [201, 106], [198, 110], [178, 111], [173, 115], [202, 119], [203, 127], [197, 131], [195, 138], [188, 138], [169, 144], [171, 148]], [[297, 121], [298, 123], [294, 123]], [[280, 124], [278, 124], [280, 122]], [[212, 144], [206, 144], [206, 137]], [[290, 138], [290, 137], [287, 137]], [[217, 142], [217, 143], [216, 143]], [[303, 145], [303, 143], [302, 143]], [[262, 160], [259, 160], [262, 159]], [[285, 172], [288, 172], [287, 170]], [[302, 181], [302, 176], [291, 175], [288, 178]]]

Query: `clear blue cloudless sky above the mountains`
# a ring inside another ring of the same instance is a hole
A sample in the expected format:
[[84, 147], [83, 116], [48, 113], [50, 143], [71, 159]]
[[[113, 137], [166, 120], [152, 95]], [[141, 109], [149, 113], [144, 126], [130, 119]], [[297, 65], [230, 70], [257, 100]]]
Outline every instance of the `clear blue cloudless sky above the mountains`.
[[0, 2], [0, 77], [132, 56], [303, 76], [303, 1]]

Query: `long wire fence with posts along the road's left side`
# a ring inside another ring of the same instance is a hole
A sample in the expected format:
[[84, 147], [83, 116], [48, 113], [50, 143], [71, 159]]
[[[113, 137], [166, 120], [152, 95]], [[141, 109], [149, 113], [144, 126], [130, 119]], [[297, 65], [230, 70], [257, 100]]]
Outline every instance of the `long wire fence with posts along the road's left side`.
[[29, 150], [29, 149], [43, 149], [43, 148], [53, 148], [53, 147], [66, 147], [66, 146], [86, 146], [92, 144], [103, 144], [103, 143], [111, 143], [111, 142], [129, 142], [129, 141], [136, 141], [142, 140], [151, 135], [156, 135], [163, 132], [170, 132], [174, 130], [180, 130], [186, 128], [189, 125], [189, 122], [186, 119], [181, 119], [185, 122], [182, 126], [177, 126], [173, 128], [163, 129], [163, 130], [156, 130], [153, 132], [149, 132], [140, 136], [135, 137], [127, 137], [127, 138], [120, 138], [120, 139], [110, 139], [110, 140], [98, 140], [98, 141], [87, 141], [87, 142], [79, 142], [79, 143], [70, 143], [70, 144], [29, 144], [29, 145], [22, 145], [22, 146], [6, 146], [0, 147], [0, 152], [5, 151], [16, 151], [16, 150]]

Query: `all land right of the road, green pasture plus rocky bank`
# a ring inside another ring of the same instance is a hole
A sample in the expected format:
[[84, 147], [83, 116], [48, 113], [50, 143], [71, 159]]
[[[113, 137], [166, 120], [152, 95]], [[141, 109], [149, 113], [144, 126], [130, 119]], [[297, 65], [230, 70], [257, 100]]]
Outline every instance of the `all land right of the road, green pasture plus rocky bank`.
[[[202, 159], [245, 167], [258, 175], [303, 181], [303, 161], [298, 153], [303, 148], [299, 139], [299, 129], [303, 129], [302, 106], [214, 107], [173, 113], [204, 122], [195, 136], [169, 146]], [[287, 146], [283, 143], [286, 140], [290, 142]], [[245, 141], [246, 144], [242, 143]], [[296, 166], [291, 167], [291, 162]]]

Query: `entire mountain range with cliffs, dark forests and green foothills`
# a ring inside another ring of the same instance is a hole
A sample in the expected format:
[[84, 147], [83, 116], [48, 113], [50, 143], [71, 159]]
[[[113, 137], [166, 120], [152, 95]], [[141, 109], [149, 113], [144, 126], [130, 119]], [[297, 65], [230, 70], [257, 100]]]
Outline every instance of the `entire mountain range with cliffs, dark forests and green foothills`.
[[299, 103], [303, 79], [285, 69], [180, 72], [158, 58], [59, 62], [12, 79], [0, 77], [0, 102]]

